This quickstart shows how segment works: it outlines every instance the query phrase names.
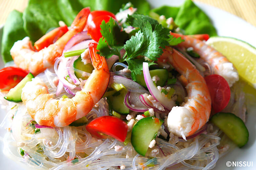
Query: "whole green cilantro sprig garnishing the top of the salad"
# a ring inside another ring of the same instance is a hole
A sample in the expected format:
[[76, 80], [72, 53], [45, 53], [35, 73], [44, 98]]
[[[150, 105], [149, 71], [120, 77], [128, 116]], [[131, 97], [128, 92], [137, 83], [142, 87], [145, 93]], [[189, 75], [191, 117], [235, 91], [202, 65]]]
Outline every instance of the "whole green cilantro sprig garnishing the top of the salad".
[[[119, 62], [127, 62], [128, 68], [135, 74], [141, 74], [143, 62], [148, 62], [149, 66], [155, 64], [163, 53], [163, 48], [168, 45], [177, 45], [184, 40], [174, 38], [170, 35], [170, 30], [162, 27], [157, 20], [146, 15], [128, 15], [127, 23], [132, 27], [139, 28], [135, 36], [128, 40], [128, 34], [121, 31], [118, 23], [110, 18], [109, 22], [102, 21], [101, 33], [103, 37], [99, 40], [97, 53], [106, 58], [112, 55], [119, 57]], [[127, 41], [126, 41], [127, 40]], [[120, 50], [124, 48], [125, 54], [121, 58]], [[145, 61], [144, 56], [150, 61]]]

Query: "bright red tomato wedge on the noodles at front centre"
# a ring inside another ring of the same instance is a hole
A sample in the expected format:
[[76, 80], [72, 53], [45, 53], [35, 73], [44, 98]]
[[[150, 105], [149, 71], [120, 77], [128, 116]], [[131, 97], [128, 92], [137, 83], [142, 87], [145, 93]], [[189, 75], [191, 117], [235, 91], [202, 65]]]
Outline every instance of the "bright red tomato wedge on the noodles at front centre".
[[127, 124], [114, 116], [98, 117], [86, 126], [86, 130], [98, 138], [106, 139], [111, 136], [121, 142], [126, 138], [127, 129]]

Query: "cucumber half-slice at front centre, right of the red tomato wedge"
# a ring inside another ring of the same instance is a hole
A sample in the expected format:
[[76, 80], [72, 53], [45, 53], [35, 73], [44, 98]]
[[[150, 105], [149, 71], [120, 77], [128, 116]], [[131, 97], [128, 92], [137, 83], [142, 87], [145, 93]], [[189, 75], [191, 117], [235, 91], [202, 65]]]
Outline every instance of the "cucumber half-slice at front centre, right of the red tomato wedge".
[[149, 143], [154, 139], [157, 131], [163, 124], [161, 119], [146, 117], [139, 120], [132, 128], [131, 143], [138, 154], [145, 156]]

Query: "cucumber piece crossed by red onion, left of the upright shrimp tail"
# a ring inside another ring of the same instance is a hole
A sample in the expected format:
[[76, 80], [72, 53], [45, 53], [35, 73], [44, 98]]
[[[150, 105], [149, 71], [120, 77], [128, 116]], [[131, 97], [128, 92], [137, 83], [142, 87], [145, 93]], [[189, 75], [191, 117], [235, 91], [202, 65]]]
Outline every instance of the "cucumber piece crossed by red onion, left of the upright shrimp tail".
[[[82, 73], [80, 71], [85, 71], [85, 72], [89, 72], [92, 73], [92, 71], [94, 70], [93, 66], [91, 63], [88, 64], [84, 64], [82, 62], [82, 58], [81, 56], [78, 57], [78, 59], [76, 59], [73, 63], [73, 67], [74, 67], [74, 72], [75, 72], [75, 76], [77, 78], [81, 78], [83, 80], [86, 80], [88, 78], [88, 76], [83, 76]], [[79, 71], [80, 70], [80, 71]]]

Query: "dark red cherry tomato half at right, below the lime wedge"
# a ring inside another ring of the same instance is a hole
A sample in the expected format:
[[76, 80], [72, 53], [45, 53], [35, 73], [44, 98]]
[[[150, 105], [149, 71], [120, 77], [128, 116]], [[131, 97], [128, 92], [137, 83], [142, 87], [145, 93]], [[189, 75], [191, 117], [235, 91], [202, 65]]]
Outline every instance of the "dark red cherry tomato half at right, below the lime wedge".
[[228, 105], [230, 99], [228, 82], [218, 74], [208, 75], [204, 79], [211, 95], [213, 110], [215, 112], [222, 111]]

